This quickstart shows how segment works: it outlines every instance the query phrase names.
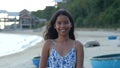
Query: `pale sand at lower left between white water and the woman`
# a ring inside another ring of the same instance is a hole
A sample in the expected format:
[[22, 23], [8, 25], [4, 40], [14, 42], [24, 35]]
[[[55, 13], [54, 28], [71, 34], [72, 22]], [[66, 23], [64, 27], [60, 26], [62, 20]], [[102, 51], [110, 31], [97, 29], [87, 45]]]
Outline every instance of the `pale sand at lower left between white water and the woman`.
[[[0, 57], [1, 68], [36, 68], [32, 63], [32, 58], [41, 55], [42, 42], [24, 51]], [[16, 63], [17, 62], [17, 63]]]

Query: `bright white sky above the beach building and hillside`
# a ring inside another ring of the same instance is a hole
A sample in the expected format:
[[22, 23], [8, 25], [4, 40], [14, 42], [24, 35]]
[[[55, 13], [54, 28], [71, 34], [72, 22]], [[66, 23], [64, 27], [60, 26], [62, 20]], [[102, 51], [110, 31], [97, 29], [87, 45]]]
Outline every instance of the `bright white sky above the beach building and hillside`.
[[54, 6], [54, 0], [0, 0], [0, 10], [8, 12], [20, 12], [43, 10], [46, 6]]

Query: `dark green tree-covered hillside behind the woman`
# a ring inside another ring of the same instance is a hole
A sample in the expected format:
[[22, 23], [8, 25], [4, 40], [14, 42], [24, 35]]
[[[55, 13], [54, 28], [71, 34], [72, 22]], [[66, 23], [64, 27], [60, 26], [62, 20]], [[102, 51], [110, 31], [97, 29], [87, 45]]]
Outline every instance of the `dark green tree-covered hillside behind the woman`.
[[32, 12], [48, 21], [59, 8], [72, 13], [76, 27], [81, 28], [120, 28], [120, 0], [68, 0], [49, 6], [45, 10]]

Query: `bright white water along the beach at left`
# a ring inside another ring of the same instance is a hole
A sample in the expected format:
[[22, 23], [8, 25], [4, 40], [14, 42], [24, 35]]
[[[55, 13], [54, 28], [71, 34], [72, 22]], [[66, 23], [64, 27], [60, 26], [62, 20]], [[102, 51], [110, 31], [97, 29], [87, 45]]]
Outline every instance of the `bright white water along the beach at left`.
[[36, 35], [0, 33], [0, 57], [23, 51], [42, 40]]

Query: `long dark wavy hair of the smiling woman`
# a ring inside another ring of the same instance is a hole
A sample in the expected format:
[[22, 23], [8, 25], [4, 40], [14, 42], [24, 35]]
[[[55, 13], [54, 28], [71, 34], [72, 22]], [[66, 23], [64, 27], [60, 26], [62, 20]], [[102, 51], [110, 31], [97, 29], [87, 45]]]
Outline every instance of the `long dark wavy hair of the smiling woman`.
[[75, 40], [74, 21], [73, 21], [73, 18], [71, 16], [71, 14], [65, 9], [59, 9], [52, 16], [49, 24], [47, 25], [47, 28], [46, 28], [46, 31], [45, 31], [45, 34], [44, 34], [44, 39], [47, 40], [47, 39], [56, 39], [56, 38], [58, 38], [58, 33], [57, 33], [56, 29], [54, 28], [54, 25], [55, 25], [57, 17], [60, 16], [60, 15], [65, 15], [65, 16], [67, 16], [69, 18], [70, 23], [72, 25], [72, 27], [70, 29], [70, 32], [69, 32], [69, 38]]

